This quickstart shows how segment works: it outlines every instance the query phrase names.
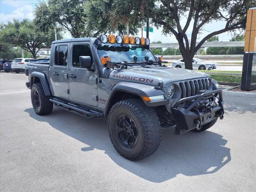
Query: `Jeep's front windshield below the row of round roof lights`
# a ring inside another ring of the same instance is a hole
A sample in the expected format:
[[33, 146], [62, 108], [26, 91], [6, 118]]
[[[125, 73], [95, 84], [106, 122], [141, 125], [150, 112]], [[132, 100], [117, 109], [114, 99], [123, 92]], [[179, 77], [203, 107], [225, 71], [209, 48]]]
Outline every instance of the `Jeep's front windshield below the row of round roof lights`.
[[98, 55], [100, 56], [100, 59], [103, 56], [110, 57], [111, 61], [113, 62], [123, 62], [123, 61], [145, 61], [147, 60], [153, 60], [156, 61], [154, 55], [152, 52], [148, 49], [141, 48], [141, 47], [134, 47], [132, 45], [129, 45], [127, 50], [124, 51], [112, 51], [112, 50], [99, 50], [98, 49]]

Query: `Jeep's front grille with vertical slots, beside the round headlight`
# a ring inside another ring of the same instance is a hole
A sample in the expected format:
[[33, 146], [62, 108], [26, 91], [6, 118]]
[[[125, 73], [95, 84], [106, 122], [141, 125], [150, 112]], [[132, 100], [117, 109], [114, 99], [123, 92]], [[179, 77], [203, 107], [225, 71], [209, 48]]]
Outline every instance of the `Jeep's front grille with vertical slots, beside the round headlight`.
[[[208, 86], [208, 84], [210, 86]], [[208, 90], [212, 86], [212, 80], [211, 78], [189, 80], [180, 82], [179, 85], [181, 98], [186, 98], [198, 94], [200, 90]]]

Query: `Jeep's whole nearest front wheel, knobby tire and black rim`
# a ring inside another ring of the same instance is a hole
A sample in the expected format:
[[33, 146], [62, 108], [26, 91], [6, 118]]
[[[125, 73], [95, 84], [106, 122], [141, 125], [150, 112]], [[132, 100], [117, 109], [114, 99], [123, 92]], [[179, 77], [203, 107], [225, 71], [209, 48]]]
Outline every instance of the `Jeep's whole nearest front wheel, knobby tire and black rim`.
[[153, 154], [162, 134], [156, 112], [140, 99], [122, 100], [112, 106], [108, 132], [116, 151], [128, 160], [140, 160]]

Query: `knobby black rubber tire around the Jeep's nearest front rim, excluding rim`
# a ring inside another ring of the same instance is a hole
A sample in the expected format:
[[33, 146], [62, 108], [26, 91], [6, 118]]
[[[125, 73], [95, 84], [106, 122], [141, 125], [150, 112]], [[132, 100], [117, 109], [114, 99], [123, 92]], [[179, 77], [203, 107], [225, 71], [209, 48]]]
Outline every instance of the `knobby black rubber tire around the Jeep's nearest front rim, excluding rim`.
[[[130, 116], [138, 129], [138, 140], [132, 148], [124, 146], [116, 132], [117, 118], [123, 114]], [[108, 133], [116, 151], [132, 161], [141, 160], [156, 152], [162, 137], [156, 112], [140, 99], [122, 100], [112, 106], [108, 114]]]

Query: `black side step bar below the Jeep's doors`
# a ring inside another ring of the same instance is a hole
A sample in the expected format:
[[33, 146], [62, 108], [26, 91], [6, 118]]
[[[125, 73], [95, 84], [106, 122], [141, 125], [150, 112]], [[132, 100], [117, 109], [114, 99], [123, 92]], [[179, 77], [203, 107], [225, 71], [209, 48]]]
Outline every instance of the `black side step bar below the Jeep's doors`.
[[74, 104], [71, 104], [71, 103], [68, 103], [68, 102], [64, 102], [64, 101], [58, 100], [56, 98], [50, 98], [50, 101], [53, 102], [54, 105], [57, 106], [57, 107], [60, 107], [64, 110], [73, 112], [73, 113], [78, 114], [78, 115], [82, 115], [86, 118], [91, 118], [91, 117], [94, 117], [94, 116], [103, 116], [103, 113], [96, 112], [96, 111], [93, 111], [93, 110], [89, 110], [89, 109], [86, 109], [86, 108], [82, 108], [80, 106], [77, 106], [77, 105], [74, 105]]

